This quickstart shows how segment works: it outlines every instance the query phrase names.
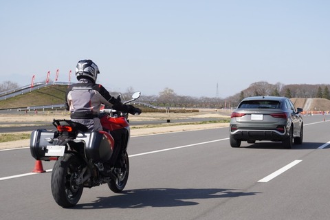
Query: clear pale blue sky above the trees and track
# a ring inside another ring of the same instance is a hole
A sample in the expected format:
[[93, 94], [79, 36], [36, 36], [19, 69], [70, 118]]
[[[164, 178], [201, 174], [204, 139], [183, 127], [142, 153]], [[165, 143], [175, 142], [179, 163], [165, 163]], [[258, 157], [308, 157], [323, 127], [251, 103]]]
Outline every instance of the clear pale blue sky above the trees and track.
[[[0, 0], [1, 80], [68, 81], [80, 59], [110, 91], [226, 98], [251, 83], [330, 83], [329, 0]], [[76, 82], [72, 74], [72, 82]]]

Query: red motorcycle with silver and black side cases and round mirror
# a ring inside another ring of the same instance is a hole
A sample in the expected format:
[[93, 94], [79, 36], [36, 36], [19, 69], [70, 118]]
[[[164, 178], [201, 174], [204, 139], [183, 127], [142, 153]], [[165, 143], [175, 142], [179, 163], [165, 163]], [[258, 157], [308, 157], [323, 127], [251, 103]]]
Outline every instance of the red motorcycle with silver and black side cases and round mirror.
[[[133, 94], [132, 102], [140, 97]], [[108, 184], [113, 192], [121, 192], [129, 178], [130, 128], [128, 113], [103, 109], [103, 131], [88, 131], [87, 126], [72, 120], [53, 120], [55, 131], [32, 131], [32, 157], [56, 161], [51, 188], [54, 200], [63, 208], [76, 206], [83, 188]]]

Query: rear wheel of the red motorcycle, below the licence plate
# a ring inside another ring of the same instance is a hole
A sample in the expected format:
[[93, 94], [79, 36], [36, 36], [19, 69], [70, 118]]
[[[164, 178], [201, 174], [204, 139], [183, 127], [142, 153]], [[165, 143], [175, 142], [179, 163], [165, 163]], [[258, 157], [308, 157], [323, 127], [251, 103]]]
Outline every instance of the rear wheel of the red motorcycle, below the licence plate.
[[83, 161], [73, 153], [59, 157], [52, 170], [52, 194], [58, 206], [70, 208], [78, 203], [83, 194], [83, 185], [76, 184]]

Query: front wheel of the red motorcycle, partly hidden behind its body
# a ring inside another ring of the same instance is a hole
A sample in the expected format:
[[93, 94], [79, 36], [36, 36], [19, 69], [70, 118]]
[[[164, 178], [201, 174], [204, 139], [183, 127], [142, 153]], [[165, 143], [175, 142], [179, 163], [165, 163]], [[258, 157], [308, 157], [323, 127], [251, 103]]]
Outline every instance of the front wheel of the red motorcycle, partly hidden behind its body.
[[125, 188], [129, 179], [129, 155], [127, 152], [123, 153], [122, 159], [122, 167], [115, 168], [115, 170], [117, 169], [115, 171], [116, 178], [111, 179], [108, 183], [110, 190], [116, 193], [121, 192]]

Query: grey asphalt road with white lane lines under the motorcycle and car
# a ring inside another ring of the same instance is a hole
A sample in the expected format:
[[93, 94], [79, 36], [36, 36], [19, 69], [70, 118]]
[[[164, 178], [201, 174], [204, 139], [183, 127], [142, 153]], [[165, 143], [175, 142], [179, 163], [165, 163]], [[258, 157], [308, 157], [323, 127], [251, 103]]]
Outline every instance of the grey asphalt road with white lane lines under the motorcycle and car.
[[292, 149], [231, 148], [228, 128], [132, 137], [124, 192], [85, 188], [71, 209], [52, 198], [53, 162], [32, 175], [29, 148], [0, 151], [1, 219], [330, 219], [330, 116], [304, 122]]

